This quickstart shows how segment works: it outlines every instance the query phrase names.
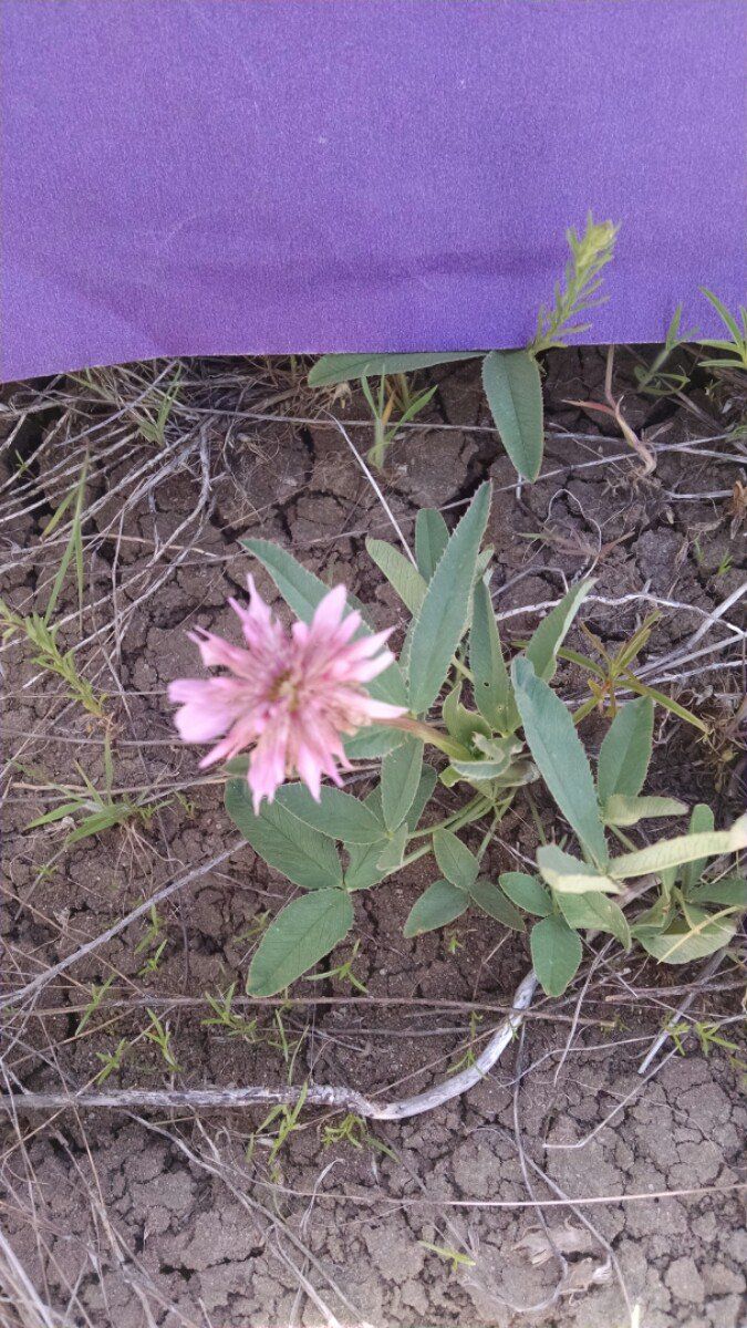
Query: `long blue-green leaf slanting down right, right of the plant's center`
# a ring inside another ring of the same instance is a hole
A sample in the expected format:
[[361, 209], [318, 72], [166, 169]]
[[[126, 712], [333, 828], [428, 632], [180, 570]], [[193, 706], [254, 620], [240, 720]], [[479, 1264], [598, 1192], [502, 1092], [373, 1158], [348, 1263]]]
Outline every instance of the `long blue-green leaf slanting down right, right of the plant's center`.
[[580, 842], [602, 865], [607, 849], [597, 790], [573, 718], [529, 660], [514, 659], [512, 673], [524, 734], [540, 774]]

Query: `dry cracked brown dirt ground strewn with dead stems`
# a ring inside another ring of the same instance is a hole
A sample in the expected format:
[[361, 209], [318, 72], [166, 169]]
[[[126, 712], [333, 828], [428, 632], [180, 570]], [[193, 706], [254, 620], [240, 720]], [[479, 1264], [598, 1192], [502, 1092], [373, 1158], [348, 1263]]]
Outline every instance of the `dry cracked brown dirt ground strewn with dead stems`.
[[[516, 487], [475, 364], [437, 373], [428, 414], [395, 444], [380, 483], [409, 537], [417, 507], [441, 507], [452, 522], [493, 478], [493, 586], [509, 640], [582, 572], [597, 576], [586, 623], [607, 645], [658, 607], [642, 676], [707, 717], [714, 737], [659, 712], [651, 791], [715, 799], [726, 822], [744, 806], [734, 724], [744, 615], [736, 599], [714, 611], [744, 582], [734, 486], [747, 452], [728, 381], [678, 401], [641, 397], [631, 364], [618, 353], [615, 390], [655, 452], [647, 477], [614, 425], [564, 404], [602, 400], [605, 352], [589, 349], [550, 357], [546, 457], [533, 487]], [[392, 538], [389, 517], [332, 420], [364, 450], [363, 402], [311, 396], [292, 364], [187, 361], [162, 436], [144, 437], [157, 412], [149, 384], [173, 373], [161, 364], [5, 390], [3, 595], [17, 614], [44, 611], [72, 507], [52, 530], [49, 521], [88, 454], [82, 614], [73, 559], [54, 620], [106, 697], [104, 718], [86, 713], [35, 664], [21, 632], [3, 643], [8, 991], [235, 842], [221, 780], [201, 776], [198, 754], [174, 741], [163, 689], [198, 672], [186, 628], [235, 635], [226, 596], [245, 590], [242, 538], [279, 540], [326, 582], [344, 580], [380, 625], [401, 623], [364, 550], [367, 534]], [[276, 602], [265, 575], [259, 583]], [[587, 695], [581, 675], [562, 685], [568, 699]], [[591, 748], [602, 732], [586, 724]], [[105, 789], [105, 738], [112, 797], [141, 810], [66, 849], [74, 818], [25, 830], [84, 777]], [[552, 807], [540, 811], [550, 829]], [[534, 842], [526, 811], [512, 814], [494, 870]], [[510, 1004], [528, 952], [524, 938], [469, 915], [447, 934], [404, 940], [420, 879], [411, 869], [356, 895], [354, 972], [367, 995], [354, 1000], [331, 977], [296, 984], [284, 1008], [254, 1008], [241, 999], [249, 959], [291, 887], [238, 849], [171, 895], [154, 927], [141, 918], [5, 1009], [3, 1090], [72, 1092], [117, 1049], [102, 1088], [308, 1081], [392, 1097], [443, 1078]], [[335, 963], [350, 954], [343, 947]], [[698, 967], [657, 969], [591, 947], [573, 988], [534, 1003], [477, 1089], [354, 1142], [335, 1141], [340, 1116], [320, 1110], [302, 1112], [278, 1147], [278, 1120], [259, 1130], [265, 1109], [5, 1110], [0, 1321], [744, 1325], [743, 957], [736, 946], [704, 989]], [[231, 983], [246, 1020], [233, 1036], [205, 1023], [205, 993]], [[667, 1042], [641, 1078], [653, 1038], [687, 996], [679, 1021], [716, 1024], [736, 1052], [704, 1056], [690, 1036], [685, 1054]], [[146, 1036], [150, 1012], [178, 1069]]]

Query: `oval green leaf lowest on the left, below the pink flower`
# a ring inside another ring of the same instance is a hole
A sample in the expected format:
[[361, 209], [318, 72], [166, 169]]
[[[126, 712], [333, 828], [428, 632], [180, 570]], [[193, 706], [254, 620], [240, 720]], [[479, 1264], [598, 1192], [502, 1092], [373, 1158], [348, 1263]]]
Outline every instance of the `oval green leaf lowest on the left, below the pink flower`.
[[352, 904], [344, 890], [316, 890], [287, 904], [270, 923], [249, 968], [250, 996], [275, 996], [347, 936]]

